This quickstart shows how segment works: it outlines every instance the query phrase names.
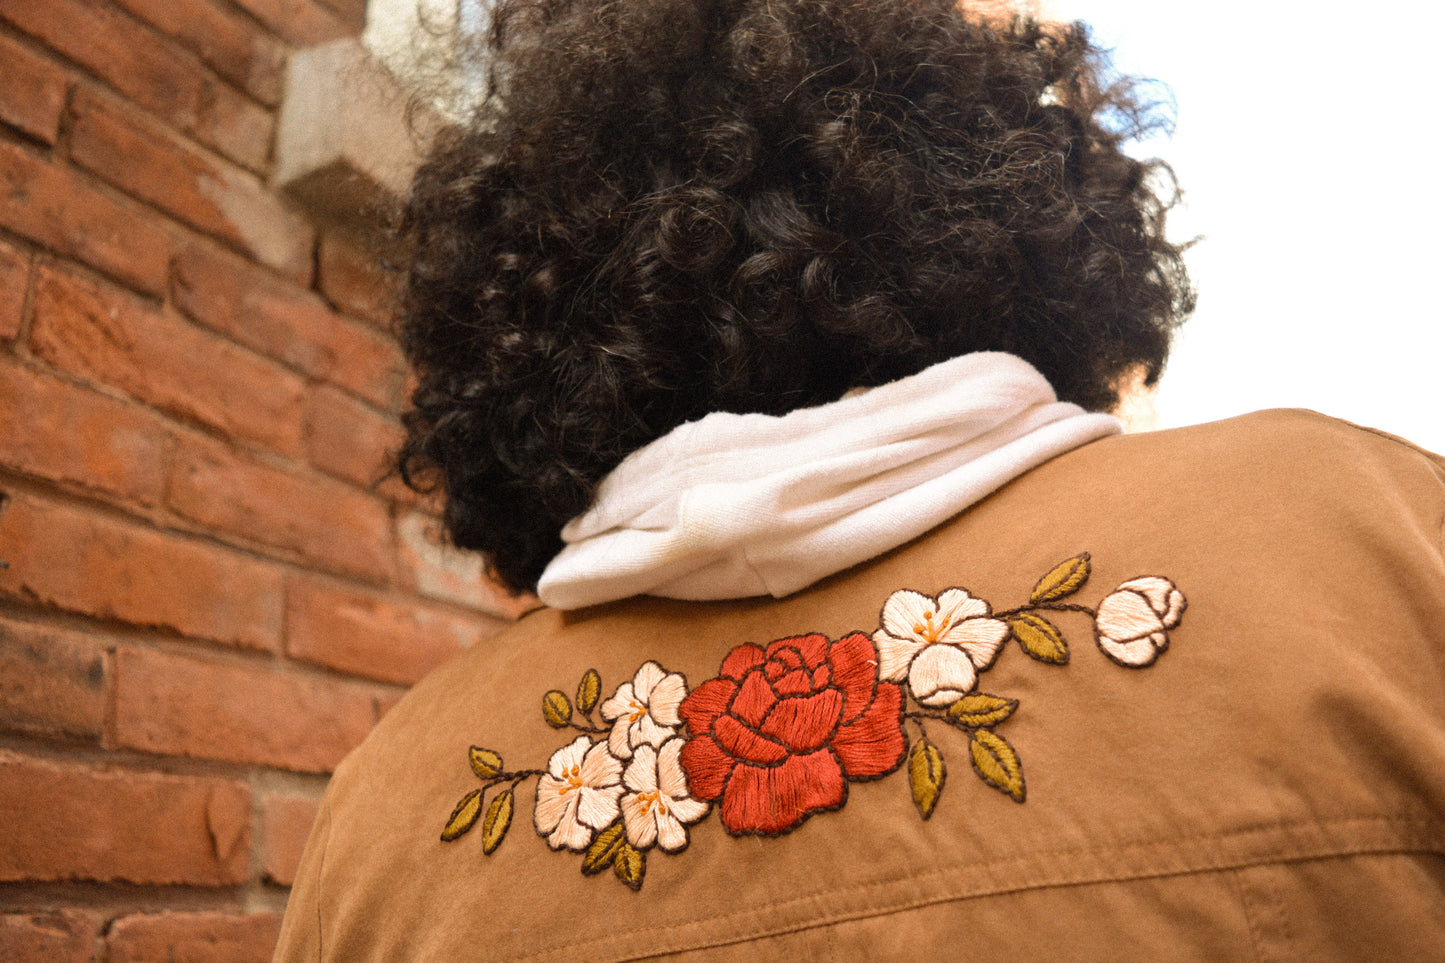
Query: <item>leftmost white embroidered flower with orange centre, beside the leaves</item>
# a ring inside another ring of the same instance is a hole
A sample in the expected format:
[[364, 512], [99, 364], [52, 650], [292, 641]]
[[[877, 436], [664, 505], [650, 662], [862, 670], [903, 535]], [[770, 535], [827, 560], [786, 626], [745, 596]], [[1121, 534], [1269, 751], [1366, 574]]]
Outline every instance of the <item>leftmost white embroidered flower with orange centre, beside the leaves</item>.
[[623, 794], [623, 763], [607, 750], [578, 736], [552, 753], [538, 779], [538, 805], [532, 820], [552, 849], [584, 850], [600, 829], [617, 818]]

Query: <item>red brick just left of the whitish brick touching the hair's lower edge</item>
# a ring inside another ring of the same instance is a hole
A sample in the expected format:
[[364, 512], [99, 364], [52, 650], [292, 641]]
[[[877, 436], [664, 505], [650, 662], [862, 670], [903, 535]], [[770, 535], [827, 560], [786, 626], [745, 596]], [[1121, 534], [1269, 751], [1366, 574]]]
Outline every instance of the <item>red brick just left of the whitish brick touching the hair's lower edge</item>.
[[381, 499], [192, 440], [175, 457], [168, 503], [211, 529], [286, 548], [328, 567], [384, 580], [390, 516]]

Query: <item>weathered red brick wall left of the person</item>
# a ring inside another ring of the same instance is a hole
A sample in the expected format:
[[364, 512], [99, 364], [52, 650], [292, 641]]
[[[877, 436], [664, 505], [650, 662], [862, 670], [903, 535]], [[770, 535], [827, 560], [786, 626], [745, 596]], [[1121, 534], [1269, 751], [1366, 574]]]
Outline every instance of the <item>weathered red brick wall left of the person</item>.
[[0, 0], [0, 959], [267, 959], [327, 774], [514, 615], [379, 483], [373, 241], [270, 187], [363, 0]]

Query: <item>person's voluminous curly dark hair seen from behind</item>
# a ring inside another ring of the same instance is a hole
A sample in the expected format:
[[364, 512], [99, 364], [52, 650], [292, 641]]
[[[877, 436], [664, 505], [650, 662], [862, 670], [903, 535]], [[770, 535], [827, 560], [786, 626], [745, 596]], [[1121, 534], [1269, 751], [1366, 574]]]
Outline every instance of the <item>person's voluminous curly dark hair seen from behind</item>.
[[[399, 454], [535, 588], [629, 453], [967, 351], [1103, 411], [1192, 308], [1153, 123], [1082, 25], [958, 0], [500, 0], [419, 169]], [[1162, 175], [1162, 176], [1156, 176]]]

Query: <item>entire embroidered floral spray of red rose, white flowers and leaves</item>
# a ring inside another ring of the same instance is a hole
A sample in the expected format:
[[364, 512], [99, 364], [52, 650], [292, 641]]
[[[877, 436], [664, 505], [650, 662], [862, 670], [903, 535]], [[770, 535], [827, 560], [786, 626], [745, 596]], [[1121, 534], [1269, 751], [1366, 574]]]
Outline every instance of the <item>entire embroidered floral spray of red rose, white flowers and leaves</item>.
[[[883, 603], [871, 639], [812, 633], [738, 645], [718, 677], [691, 693], [681, 672], [643, 662], [598, 706], [603, 680], [590, 668], [574, 698], [556, 688], [542, 696], [546, 724], [579, 733], [546, 769], [507, 771], [500, 752], [468, 749], [483, 785], [457, 803], [442, 842], [480, 826], [490, 856], [512, 826], [519, 787], [535, 778], [538, 834], [552, 849], [582, 853], [584, 875], [611, 868], [637, 891], [653, 850], [685, 850], [688, 827], [714, 801], [733, 836], [777, 836], [841, 807], [848, 782], [902, 766], [928, 820], [948, 776], [946, 740], [959, 737], [978, 778], [1023, 803], [1023, 762], [996, 732], [1019, 700], [978, 688], [1003, 645], [1013, 639], [1038, 662], [1068, 665], [1069, 645], [1051, 619], [1087, 615], [1098, 648], [1136, 668], [1159, 658], [1183, 617], [1183, 593], [1160, 575], [1126, 581], [1097, 609], [1079, 604], [1071, 596], [1090, 574], [1088, 552], [1066, 558], [1027, 602], [1003, 612], [967, 588], [900, 588]], [[935, 743], [938, 732], [952, 735]]]

